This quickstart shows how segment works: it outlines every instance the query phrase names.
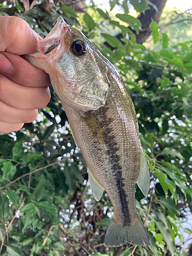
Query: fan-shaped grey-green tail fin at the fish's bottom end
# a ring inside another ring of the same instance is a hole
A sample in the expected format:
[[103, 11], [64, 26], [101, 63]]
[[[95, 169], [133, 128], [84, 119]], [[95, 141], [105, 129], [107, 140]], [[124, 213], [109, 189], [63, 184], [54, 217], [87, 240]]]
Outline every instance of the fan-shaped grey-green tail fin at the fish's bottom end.
[[136, 215], [136, 219], [127, 225], [116, 222], [114, 217], [112, 217], [108, 230], [106, 230], [104, 243], [106, 247], [117, 247], [126, 243], [150, 245], [145, 228], [138, 214]]

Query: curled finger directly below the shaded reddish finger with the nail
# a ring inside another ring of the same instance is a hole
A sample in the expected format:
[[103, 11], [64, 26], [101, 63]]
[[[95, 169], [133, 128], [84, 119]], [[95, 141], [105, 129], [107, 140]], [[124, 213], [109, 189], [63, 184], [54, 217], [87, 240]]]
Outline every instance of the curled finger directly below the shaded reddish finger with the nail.
[[0, 73], [0, 100], [17, 109], [42, 109], [50, 101], [49, 87], [25, 87]]

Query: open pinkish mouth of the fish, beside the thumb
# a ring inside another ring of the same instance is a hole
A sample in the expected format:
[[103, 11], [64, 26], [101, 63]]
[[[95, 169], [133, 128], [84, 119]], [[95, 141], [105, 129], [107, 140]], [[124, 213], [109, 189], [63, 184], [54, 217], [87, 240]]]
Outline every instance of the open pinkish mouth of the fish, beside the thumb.
[[54, 28], [44, 40], [39, 42], [38, 52], [48, 57], [51, 54], [55, 54], [61, 46], [61, 41], [64, 39], [67, 27], [69, 27], [69, 25], [59, 16]]

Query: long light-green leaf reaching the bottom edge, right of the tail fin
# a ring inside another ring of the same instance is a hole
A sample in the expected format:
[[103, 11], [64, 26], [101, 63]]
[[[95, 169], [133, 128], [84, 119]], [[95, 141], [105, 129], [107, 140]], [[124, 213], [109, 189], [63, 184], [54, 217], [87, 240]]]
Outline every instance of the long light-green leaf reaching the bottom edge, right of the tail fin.
[[162, 222], [156, 222], [157, 228], [160, 230], [162, 239], [167, 244], [167, 249], [172, 253], [172, 256], [174, 256], [175, 253], [175, 242], [172, 239], [172, 234], [170, 231], [165, 227], [165, 225]]

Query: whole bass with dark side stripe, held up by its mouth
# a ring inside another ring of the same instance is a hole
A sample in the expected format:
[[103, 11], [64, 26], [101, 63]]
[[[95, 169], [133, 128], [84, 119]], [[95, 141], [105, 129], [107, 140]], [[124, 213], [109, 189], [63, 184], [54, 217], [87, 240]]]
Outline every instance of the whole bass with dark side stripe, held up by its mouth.
[[25, 56], [49, 76], [68, 117], [74, 141], [88, 165], [93, 195], [105, 190], [114, 209], [107, 247], [149, 246], [135, 206], [135, 184], [146, 197], [150, 171], [142, 150], [133, 101], [112, 63], [62, 17], [37, 52]]

